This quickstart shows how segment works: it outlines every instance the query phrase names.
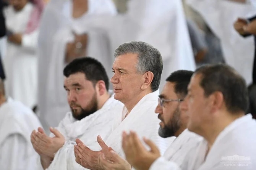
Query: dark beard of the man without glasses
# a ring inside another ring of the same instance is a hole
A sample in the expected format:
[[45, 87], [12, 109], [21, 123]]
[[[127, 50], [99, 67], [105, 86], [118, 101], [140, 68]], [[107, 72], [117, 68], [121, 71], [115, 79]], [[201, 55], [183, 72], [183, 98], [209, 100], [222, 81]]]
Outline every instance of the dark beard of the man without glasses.
[[82, 120], [84, 119], [84, 117], [88, 116], [88, 115], [91, 115], [93, 114], [94, 112], [96, 112], [98, 110], [98, 102], [97, 102], [97, 99], [96, 99], [96, 93], [94, 94], [94, 96], [92, 97], [92, 101], [91, 103], [89, 104], [89, 107], [88, 109], [83, 109], [81, 108], [81, 111], [80, 113], [76, 113], [77, 110], [75, 109], [71, 109], [72, 111], [72, 115], [73, 117], [76, 119], [76, 120]]

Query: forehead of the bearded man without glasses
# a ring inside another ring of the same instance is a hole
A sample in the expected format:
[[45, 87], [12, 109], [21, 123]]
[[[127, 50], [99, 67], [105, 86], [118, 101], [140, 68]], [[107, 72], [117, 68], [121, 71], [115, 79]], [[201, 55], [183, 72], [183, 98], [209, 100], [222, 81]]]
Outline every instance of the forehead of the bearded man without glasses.
[[65, 80], [64, 80], [65, 85], [72, 85], [74, 83], [79, 83], [80, 85], [86, 85], [89, 82], [90, 82], [89, 80], [86, 80], [85, 74], [81, 72], [71, 74], [70, 76], [65, 77]]

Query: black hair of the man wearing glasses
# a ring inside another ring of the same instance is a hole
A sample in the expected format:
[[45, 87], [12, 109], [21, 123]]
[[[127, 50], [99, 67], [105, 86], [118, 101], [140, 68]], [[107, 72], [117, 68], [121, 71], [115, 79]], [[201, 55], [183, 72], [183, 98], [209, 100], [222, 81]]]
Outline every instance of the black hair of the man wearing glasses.
[[190, 83], [193, 73], [193, 71], [178, 70], [169, 75], [165, 81], [175, 83], [175, 93], [185, 98], [188, 94], [188, 84]]

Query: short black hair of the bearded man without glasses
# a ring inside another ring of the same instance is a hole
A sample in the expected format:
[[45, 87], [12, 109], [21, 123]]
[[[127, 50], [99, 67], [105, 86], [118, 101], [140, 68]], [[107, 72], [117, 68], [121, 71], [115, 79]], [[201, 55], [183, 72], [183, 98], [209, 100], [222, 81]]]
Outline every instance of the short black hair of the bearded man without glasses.
[[71, 61], [63, 70], [65, 77], [71, 74], [84, 73], [86, 80], [91, 81], [94, 85], [99, 81], [105, 82], [106, 89], [109, 90], [109, 78], [102, 64], [94, 58], [82, 57]]

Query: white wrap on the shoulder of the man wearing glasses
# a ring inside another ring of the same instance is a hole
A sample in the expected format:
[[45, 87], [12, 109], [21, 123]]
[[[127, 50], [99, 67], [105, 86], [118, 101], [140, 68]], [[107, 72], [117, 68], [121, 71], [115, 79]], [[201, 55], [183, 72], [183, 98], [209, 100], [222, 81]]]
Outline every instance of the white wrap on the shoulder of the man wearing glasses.
[[193, 132], [190, 132], [188, 129], [184, 130], [173, 141], [173, 143], [165, 151], [164, 155], [154, 161], [149, 170], [162, 170], [162, 161], [165, 160], [175, 162], [178, 166], [181, 166], [186, 157], [186, 154], [188, 154], [190, 149], [194, 148], [201, 140], [201, 136], [196, 135]]

